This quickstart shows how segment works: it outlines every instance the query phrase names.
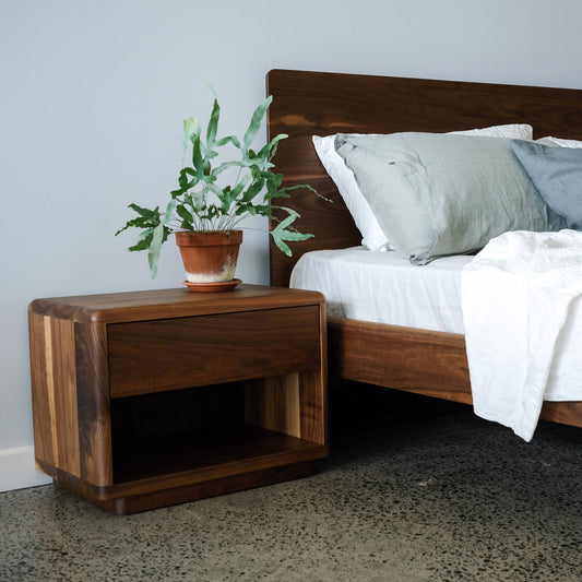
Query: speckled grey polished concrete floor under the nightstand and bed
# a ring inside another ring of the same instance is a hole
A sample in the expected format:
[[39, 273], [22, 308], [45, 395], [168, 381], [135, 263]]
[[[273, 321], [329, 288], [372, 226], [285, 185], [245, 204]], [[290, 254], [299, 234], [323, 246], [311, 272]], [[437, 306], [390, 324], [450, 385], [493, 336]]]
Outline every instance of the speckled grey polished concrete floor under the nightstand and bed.
[[130, 516], [0, 494], [0, 581], [582, 580], [582, 429], [526, 444], [462, 407], [332, 444], [313, 477]]

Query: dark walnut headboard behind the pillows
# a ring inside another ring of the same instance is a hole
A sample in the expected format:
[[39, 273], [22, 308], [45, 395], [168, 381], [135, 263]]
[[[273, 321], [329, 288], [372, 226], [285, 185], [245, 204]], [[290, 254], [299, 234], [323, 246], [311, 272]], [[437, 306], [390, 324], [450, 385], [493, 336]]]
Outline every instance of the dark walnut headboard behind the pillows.
[[287, 286], [297, 259], [307, 251], [360, 244], [360, 235], [334, 183], [319, 162], [311, 135], [446, 132], [530, 123], [536, 138], [555, 135], [582, 140], [582, 90], [497, 85], [426, 79], [273, 70], [266, 76], [273, 95], [268, 135], [280, 142], [276, 170], [284, 183], [309, 183], [333, 200], [308, 191], [295, 192], [285, 205], [301, 218], [297, 227], [314, 238], [293, 244], [293, 257], [271, 242], [271, 284]]

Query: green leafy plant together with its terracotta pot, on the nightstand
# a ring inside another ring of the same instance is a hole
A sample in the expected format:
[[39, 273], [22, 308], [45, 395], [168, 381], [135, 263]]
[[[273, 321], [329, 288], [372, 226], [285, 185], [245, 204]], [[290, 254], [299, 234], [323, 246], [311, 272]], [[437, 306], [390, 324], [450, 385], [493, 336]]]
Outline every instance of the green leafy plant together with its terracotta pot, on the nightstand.
[[[288, 256], [292, 254], [288, 241], [312, 236], [301, 234], [293, 226], [299, 216], [296, 211], [273, 202], [288, 198], [290, 191], [300, 188], [314, 192], [308, 185], [282, 188], [283, 175], [271, 171], [277, 144], [287, 135], [276, 135], [258, 152], [251, 149], [271, 102], [270, 96], [257, 107], [242, 140], [235, 135], [218, 139], [221, 108], [216, 96], [205, 139], [198, 119], [185, 120], [183, 156], [191, 146], [191, 165], [182, 162], [178, 188], [170, 192], [165, 207], [146, 209], [130, 204], [138, 216], [116, 233], [117, 236], [130, 227], [141, 230], [136, 244], [129, 250], [147, 250], [152, 277], [157, 274], [162, 245], [171, 234], [176, 236], [185, 262], [185, 284], [192, 290], [236, 286], [235, 265], [242, 240], [242, 231], [237, 226], [248, 216], [271, 218], [276, 224], [271, 229], [271, 236]], [[225, 147], [235, 151], [231, 159], [224, 159], [221, 155]], [[283, 218], [278, 217], [281, 212], [274, 214], [273, 211], [282, 211]], [[199, 258], [200, 254], [202, 258]]]

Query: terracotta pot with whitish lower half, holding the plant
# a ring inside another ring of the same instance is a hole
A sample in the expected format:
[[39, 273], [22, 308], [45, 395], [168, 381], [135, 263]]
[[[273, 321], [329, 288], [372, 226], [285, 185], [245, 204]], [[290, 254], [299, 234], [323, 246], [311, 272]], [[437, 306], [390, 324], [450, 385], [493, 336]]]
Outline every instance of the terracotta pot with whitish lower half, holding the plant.
[[188, 287], [233, 282], [242, 230], [176, 233]]

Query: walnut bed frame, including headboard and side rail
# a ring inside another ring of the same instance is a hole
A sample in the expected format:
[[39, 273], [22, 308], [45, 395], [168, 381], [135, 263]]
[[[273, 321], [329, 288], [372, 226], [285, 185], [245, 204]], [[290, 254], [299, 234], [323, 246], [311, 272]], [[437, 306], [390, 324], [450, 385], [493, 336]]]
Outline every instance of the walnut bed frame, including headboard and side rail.
[[[360, 245], [361, 236], [321, 165], [311, 135], [447, 132], [530, 123], [535, 136], [582, 140], [582, 90], [497, 85], [424, 79], [270, 71], [268, 134], [280, 142], [276, 170], [285, 183], [309, 183], [333, 203], [296, 193], [285, 205], [314, 237], [296, 242], [287, 258], [272, 246], [271, 284], [288, 286], [304, 253]], [[330, 373], [418, 394], [472, 403], [464, 336], [329, 318]], [[582, 427], [582, 402], [546, 402], [542, 418]]]

